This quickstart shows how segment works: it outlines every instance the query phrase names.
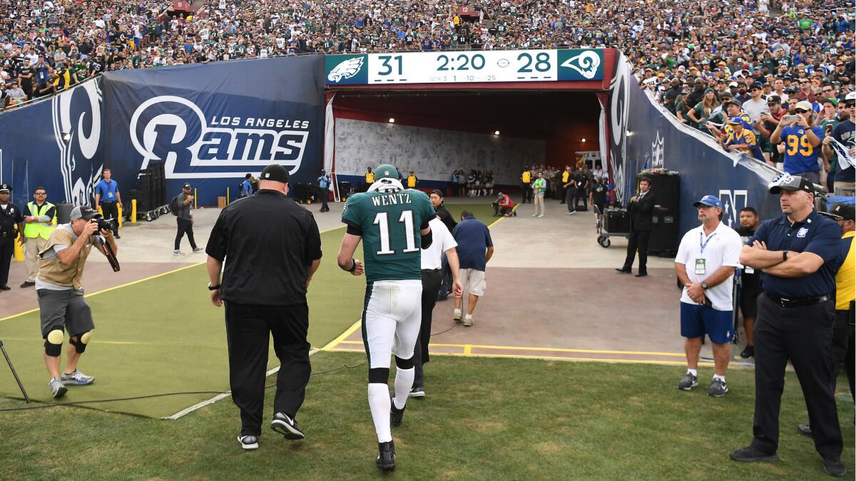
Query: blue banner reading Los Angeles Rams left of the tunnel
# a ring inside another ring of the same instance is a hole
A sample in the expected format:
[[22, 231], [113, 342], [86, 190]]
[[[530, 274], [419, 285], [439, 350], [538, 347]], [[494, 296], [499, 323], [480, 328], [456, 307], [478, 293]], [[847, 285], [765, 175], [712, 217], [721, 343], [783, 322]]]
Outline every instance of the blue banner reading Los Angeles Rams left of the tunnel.
[[[324, 57], [287, 56], [104, 74], [104, 163], [133, 186], [164, 163], [167, 198], [190, 182], [199, 205], [235, 198], [270, 163], [292, 187], [318, 178], [324, 145]], [[133, 188], [133, 187], [130, 187]]]

